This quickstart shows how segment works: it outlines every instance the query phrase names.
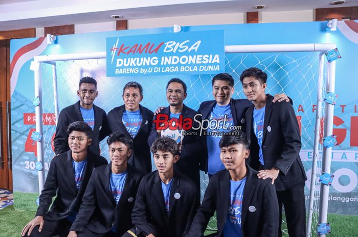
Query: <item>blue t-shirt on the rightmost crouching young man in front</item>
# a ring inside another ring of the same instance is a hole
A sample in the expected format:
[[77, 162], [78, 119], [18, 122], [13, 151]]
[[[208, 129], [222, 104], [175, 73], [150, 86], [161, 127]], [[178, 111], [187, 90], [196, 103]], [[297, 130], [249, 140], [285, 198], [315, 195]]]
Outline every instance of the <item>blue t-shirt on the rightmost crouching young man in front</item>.
[[228, 216], [224, 229], [224, 237], [241, 237], [241, 206], [246, 177], [239, 181], [230, 180], [230, 200]]

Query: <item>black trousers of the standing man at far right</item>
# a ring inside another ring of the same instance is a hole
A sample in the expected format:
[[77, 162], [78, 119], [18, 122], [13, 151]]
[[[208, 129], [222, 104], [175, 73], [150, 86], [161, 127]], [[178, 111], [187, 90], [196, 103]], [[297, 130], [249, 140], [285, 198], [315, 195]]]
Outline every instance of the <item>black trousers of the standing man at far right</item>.
[[280, 209], [278, 237], [282, 236], [282, 204], [285, 208], [286, 223], [289, 237], [306, 236], [306, 205], [304, 199], [304, 183], [294, 187], [276, 191]]

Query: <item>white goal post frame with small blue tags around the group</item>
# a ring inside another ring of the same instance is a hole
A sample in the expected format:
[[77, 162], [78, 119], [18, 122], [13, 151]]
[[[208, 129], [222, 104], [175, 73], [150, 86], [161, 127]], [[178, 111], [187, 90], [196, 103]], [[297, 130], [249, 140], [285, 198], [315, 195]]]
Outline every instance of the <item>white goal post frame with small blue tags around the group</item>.
[[[307, 220], [307, 237], [311, 236], [312, 225], [312, 212], [314, 211], [314, 192], [316, 189], [315, 180], [317, 177], [317, 162], [319, 154], [319, 139], [320, 139], [320, 120], [322, 118], [322, 91], [323, 85], [326, 85], [326, 91], [334, 93], [335, 83], [335, 61], [327, 62], [325, 59], [325, 52], [334, 49], [335, 44], [322, 44], [322, 43], [310, 43], [310, 44], [260, 44], [260, 45], [226, 45], [225, 53], [253, 53], [253, 52], [320, 52], [319, 56], [319, 76], [317, 81], [317, 110], [316, 110], [316, 124], [315, 124], [315, 136], [314, 136], [314, 152], [312, 156], [312, 172], [310, 183], [310, 196], [309, 196], [309, 208], [308, 208], [308, 220]], [[42, 88], [41, 88], [41, 70], [40, 64], [47, 63], [52, 65], [53, 69], [53, 89], [55, 97], [55, 116], [56, 123], [58, 118], [58, 100], [57, 100], [57, 80], [56, 80], [56, 61], [66, 60], [84, 60], [84, 59], [105, 59], [106, 52], [89, 52], [80, 54], [62, 54], [62, 55], [44, 55], [34, 57], [34, 63], [32, 68], [34, 70], [34, 85], [35, 85], [35, 97], [39, 97], [39, 106], [35, 107], [36, 116], [36, 131], [43, 133], [42, 127]], [[326, 70], [326, 77], [324, 81], [324, 74]], [[324, 137], [332, 135], [333, 129], [333, 108], [334, 106], [329, 103], [325, 103], [325, 115], [324, 115]], [[44, 163], [44, 142], [43, 139], [37, 142], [37, 161]], [[331, 169], [331, 152], [332, 148], [323, 148], [322, 158], [322, 172], [330, 173]], [[39, 193], [43, 189], [45, 173], [43, 170], [38, 171], [38, 185]], [[320, 205], [319, 205], [319, 223], [327, 222], [327, 209], [328, 209], [328, 192], [329, 186], [321, 184], [320, 190]], [[325, 236], [325, 235], [320, 235]]]

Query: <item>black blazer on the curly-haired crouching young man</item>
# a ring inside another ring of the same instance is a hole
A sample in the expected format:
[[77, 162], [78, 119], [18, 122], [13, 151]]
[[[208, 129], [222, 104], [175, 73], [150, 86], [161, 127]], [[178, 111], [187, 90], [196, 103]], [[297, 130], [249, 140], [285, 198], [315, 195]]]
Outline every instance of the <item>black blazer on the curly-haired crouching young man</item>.
[[[158, 171], [143, 177], [132, 222], [136, 231], [144, 232], [145, 235], [152, 233], [155, 237], [180, 237], [190, 228], [199, 194], [191, 179], [174, 170], [167, 215], [161, 183]], [[180, 194], [180, 198], [174, 198], [174, 195], [177, 197], [176, 193]]]

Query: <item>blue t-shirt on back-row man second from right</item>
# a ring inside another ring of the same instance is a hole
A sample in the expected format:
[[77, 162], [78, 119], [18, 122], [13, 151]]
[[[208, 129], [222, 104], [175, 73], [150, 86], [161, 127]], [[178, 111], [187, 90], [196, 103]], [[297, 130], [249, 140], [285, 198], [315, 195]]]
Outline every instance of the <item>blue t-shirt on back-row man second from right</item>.
[[[218, 104], [215, 104], [213, 107], [209, 120], [211, 121], [212, 125], [214, 125], [216, 122], [212, 122], [214, 120], [223, 119], [226, 115], [226, 118], [229, 119], [228, 122], [225, 122], [225, 128], [223, 127], [223, 121], [219, 123], [219, 126], [216, 127], [218, 129], [210, 129], [208, 128], [208, 132], [215, 132], [215, 131], [230, 131], [229, 127], [234, 125], [233, 118], [231, 115], [230, 110], [230, 104], [227, 106], [219, 106]], [[225, 169], [225, 166], [220, 161], [220, 148], [219, 148], [219, 142], [222, 136], [220, 135], [208, 135], [206, 138], [207, 148], [208, 148], [208, 173], [209, 174], [215, 174], [216, 172]]]

